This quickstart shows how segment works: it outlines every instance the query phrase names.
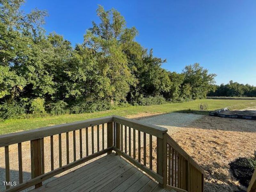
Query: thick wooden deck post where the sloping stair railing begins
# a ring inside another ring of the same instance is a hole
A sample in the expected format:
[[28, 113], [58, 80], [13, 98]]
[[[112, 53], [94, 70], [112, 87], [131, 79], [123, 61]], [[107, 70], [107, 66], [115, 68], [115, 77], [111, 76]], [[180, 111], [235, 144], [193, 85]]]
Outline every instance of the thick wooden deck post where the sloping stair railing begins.
[[163, 177], [163, 183], [159, 186], [166, 188], [167, 185], [167, 133], [163, 133], [163, 139], [157, 137], [157, 173]]

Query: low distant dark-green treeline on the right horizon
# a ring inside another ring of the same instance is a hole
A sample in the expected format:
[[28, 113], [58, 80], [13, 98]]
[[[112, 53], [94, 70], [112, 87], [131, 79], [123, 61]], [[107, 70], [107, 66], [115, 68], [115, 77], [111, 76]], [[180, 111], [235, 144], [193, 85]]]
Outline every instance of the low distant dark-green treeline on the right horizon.
[[256, 87], [229, 81], [228, 84], [214, 85], [207, 96], [256, 97]]

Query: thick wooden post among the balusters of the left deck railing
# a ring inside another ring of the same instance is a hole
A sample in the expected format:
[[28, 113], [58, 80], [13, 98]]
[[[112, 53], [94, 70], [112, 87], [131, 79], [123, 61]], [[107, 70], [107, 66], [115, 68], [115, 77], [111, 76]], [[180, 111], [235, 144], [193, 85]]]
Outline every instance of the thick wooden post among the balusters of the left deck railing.
[[[31, 178], [42, 175], [42, 145], [41, 139], [31, 140]], [[42, 186], [42, 182], [37, 183], [35, 188]]]

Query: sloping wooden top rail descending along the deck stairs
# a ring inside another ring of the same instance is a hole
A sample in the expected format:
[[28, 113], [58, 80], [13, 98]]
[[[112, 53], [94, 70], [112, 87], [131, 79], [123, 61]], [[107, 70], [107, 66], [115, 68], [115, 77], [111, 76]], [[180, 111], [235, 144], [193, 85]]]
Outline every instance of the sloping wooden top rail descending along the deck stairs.
[[180, 147], [180, 145], [172, 139], [170, 135], [167, 134], [167, 143], [171, 144], [172, 148], [174, 148], [177, 152], [180, 153], [183, 157], [185, 157], [190, 164], [192, 164], [198, 171], [200, 171], [202, 174], [204, 174], [204, 169], [196, 163], [196, 161], [188, 155], [188, 153]]

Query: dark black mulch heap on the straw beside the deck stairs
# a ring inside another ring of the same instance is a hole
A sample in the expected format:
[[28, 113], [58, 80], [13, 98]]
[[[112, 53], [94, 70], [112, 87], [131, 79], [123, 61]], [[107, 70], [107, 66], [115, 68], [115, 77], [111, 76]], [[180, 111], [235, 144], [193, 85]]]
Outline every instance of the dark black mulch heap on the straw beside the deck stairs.
[[242, 185], [248, 187], [256, 167], [256, 160], [240, 157], [231, 162], [229, 165], [235, 178], [239, 180]]

